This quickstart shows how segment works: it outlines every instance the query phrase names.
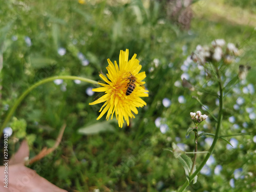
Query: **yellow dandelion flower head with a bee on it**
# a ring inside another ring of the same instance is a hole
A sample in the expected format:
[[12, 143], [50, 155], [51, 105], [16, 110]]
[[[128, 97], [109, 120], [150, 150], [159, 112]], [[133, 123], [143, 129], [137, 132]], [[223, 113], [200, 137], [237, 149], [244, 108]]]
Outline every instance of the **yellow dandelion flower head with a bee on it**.
[[[108, 112], [106, 119], [109, 120], [110, 115], [112, 119], [115, 113], [119, 127], [123, 126], [124, 120], [127, 122], [127, 125], [129, 125], [129, 117], [135, 118], [133, 113], [138, 114], [137, 108], [142, 108], [142, 106], [146, 105], [146, 102], [140, 97], [148, 97], [146, 93], [148, 91], [140, 86], [145, 83], [142, 80], [146, 77], [146, 74], [145, 72], [139, 73], [142, 66], [139, 65], [136, 54], [134, 54], [130, 60], [128, 60], [128, 56], [129, 50], [126, 49], [125, 52], [120, 51], [119, 67], [116, 61], [113, 64], [110, 59], [108, 59], [109, 66], [106, 67], [108, 70], [106, 76], [108, 76], [109, 79], [102, 74], [99, 75], [107, 84], [99, 83], [102, 87], [93, 89], [94, 92], [104, 92], [105, 94], [96, 101], [89, 103], [92, 105], [105, 102], [99, 111], [101, 113], [97, 120], [106, 112]], [[126, 95], [127, 87], [131, 81], [128, 77], [131, 75], [136, 77], [136, 87], [130, 95]]]

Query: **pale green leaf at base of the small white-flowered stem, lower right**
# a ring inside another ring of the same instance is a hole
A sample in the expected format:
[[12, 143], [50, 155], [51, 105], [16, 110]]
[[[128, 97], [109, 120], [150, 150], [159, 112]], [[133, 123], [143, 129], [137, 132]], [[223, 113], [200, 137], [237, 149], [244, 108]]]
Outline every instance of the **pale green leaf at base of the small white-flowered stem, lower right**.
[[[192, 168], [193, 162], [191, 158], [188, 157], [186, 154], [184, 154], [185, 152], [181, 151], [180, 148], [175, 143], [172, 143], [172, 146], [173, 146], [173, 151], [168, 150], [167, 148], [165, 150], [172, 152], [174, 154], [174, 157], [179, 160], [179, 162], [182, 164], [185, 170], [187, 181], [190, 182], [189, 174], [190, 174], [190, 170]], [[195, 170], [196, 170], [196, 166], [194, 167], [193, 173], [195, 172]], [[194, 180], [193, 183], [195, 184], [197, 182], [197, 176], [193, 180]]]

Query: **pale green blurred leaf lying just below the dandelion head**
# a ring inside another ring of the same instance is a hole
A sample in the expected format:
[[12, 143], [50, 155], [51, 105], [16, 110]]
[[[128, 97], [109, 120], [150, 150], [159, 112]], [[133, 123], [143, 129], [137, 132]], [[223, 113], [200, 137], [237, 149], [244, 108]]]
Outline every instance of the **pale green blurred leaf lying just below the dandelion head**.
[[81, 127], [80, 129], [78, 129], [78, 133], [83, 135], [93, 135], [93, 134], [98, 134], [99, 132], [104, 132], [104, 131], [114, 131], [115, 128], [111, 124], [111, 122], [115, 122], [115, 121], [116, 120], [102, 121], [102, 122], [91, 124], [86, 127]]

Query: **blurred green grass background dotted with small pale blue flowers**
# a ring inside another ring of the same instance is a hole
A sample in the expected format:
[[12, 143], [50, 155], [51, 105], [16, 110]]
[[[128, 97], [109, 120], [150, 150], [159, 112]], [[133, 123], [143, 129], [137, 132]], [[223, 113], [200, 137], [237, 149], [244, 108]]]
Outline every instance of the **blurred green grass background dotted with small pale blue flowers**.
[[[176, 191], [186, 180], [184, 169], [163, 148], [175, 142], [193, 151], [194, 136], [186, 136], [193, 126], [189, 113], [209, 115], [207, 108], [217, 116], [219, 105], [210, 94], [183, 88], [182, 78], [217, 93], [190, 55], [197, 45], [224, 39], [243, 50], [225, 80], [238, 75], [239, 65], [251, 69], [225, 97], [221, 135], [252, 135], [227, 138], [233, 147], [219, 141], [198, 182], [187, 189], [255, 191], [255, 0], [0, 2], [0, 123], [33, 83], [56, 75], [101, 80], [106, 59], [118, 61], [120, 50], [129, 49], [129, 58], [137, 54], [149, 91], [131, 126], [120, 129], [116, 121], [96, 120], [102, 104], [89, 102], [100, 96], [92, 92], [97, 86], [61, 79], [39, 86], [8, 124], [10, 155], [23, 139], [31, 157], [52, 147], [67, 123], [57, 150], [29, 166], [51, 183], [68, 191]], [[215, 127], [209, 116], [199, 130], [214, 133]], [[207, 151], [212, 139], [201, 137], [198, 151]]]

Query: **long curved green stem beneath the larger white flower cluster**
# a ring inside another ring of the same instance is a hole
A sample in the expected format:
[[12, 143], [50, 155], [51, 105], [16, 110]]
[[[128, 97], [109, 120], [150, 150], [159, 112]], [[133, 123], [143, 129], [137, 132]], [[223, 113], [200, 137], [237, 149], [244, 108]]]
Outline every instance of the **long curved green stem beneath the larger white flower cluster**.
[[216, 143], [219, 139], [219, 135], [220, 135], [220, 130], [221, 130], [221, 122], [222, 122], [222, 116], [223, 116], [223, 88], [222, 88], [222, 83], [221, 83], [221, 78], [220, 78], [220, 74], [218, 69], [216, 69], [217, 71], [217, 76], [218, 76], [218, 81], [219, 81], [219, 89], [220, 89], [220, 96], [219, 96], [219, 101], [220, 101], [220, 109], [219, 109], [219, 117], [218, 117], [218, 124], [217, 124], [217, 129], [216, 129], [216, 133], [215, 133], [215, 138], [214, 141], [212, 142], [210, 149], [209, 149], [209, 153], [205, 156], [205, 158], [203, 159], [202, 163], [198, 166], [197, 170], [195, 170], [194, 174], [192, 174], [189, 177], [189, 182], [186, 181], [181, 188], [178, 190], [178, 192], [184, 191], [186, 189], [186, 187], [189, 185], [189, 183], [191, 181], [193, 181], [193, 179], [197, 176], [197, 174], [200, 172], [200, 170], [203, 168], [203, 166], [205, 165], [205, 163], [207, 162], [207, 160], [209, 159], [210, 155], [212, 154], [212, 152], [214, 152], [214, 148], [216, 146]]

